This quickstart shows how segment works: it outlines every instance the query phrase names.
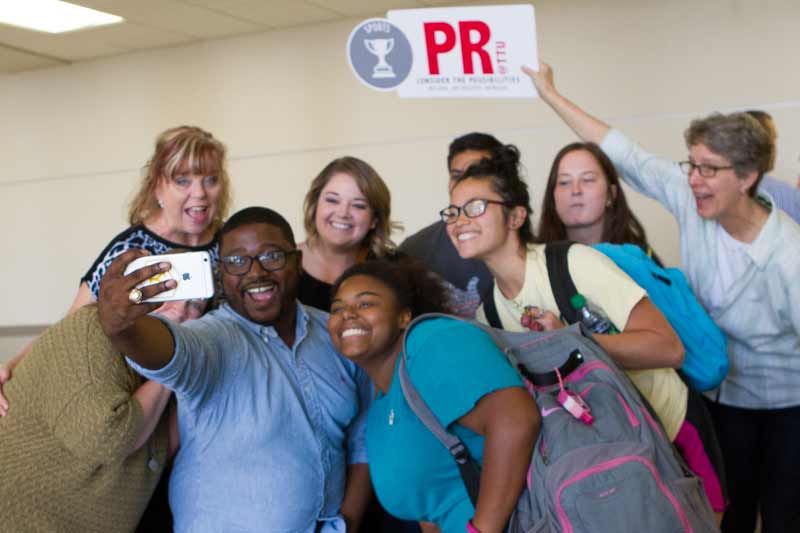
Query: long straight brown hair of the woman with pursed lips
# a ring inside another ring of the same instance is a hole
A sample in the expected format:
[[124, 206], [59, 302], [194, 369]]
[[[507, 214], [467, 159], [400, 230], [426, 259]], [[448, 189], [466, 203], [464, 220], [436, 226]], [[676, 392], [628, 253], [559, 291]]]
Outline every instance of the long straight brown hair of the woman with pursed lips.
[[[609, 188], [609, 198], [611, 205], [606, 208], [603, 218], [603, 241], [614, 244], [631, 243], [639, 246], [643, 250], [648, 250], [650, 245], [647, 242], [647, 234], [644, 231], [639, 219], [633, 214], [625, 193], [620, 184], [617, 169], [608, 156], [594, 143], [576, 142], [568, 144], [556, 154], [553, 164], [550, 167], [550, 175], [547, 178], [547, 187], [542, 198], [542, 215], [539, 218], [539, 238], [542, 242], [554, 242], [567, 239], [567, 228], [558, 216], [556, 211], [555, 188], [558, 182], [558, 168], [564, 157], [578, 150], [589, 152], [600, 165], [606, 178]], [[611, 187], [616, 190], [616, 197], [610, 193]]]

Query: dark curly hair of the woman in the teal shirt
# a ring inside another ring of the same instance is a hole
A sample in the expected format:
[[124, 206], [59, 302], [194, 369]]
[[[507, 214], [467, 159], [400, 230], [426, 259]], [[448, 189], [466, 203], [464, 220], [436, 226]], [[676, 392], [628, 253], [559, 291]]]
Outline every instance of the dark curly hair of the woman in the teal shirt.
[[339, 276], [333, 284], [331, 294], [335, 297], [342, 283], [354, 276], [368, 276], [388, 287], [394, 292], [398, 307], [409, 309], [412, 318], [425, 313], [453, 312], [450, 293], [442, 278], [416, 259], [376, 259], [355, 264]]

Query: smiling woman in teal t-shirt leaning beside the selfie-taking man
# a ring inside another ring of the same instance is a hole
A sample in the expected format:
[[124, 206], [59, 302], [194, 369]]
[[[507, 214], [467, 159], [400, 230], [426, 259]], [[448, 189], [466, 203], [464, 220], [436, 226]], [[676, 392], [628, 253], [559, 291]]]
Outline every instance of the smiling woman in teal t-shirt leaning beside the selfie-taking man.
[[396, 372], [409, 322], [446, 310], [446, 301], [443, 287], [420, 267], [363, 263], [334, 285], [328, 331], [378, 389], [367, 454], [383, 506], [444, 533], [499, 533], [523, 490], [541, 418], [517, 372], [479, 328], [450, 318], [414, 327], [407, 344], [411, 381], [482, 466], [473, 507], [455, 461], [406, 403]]

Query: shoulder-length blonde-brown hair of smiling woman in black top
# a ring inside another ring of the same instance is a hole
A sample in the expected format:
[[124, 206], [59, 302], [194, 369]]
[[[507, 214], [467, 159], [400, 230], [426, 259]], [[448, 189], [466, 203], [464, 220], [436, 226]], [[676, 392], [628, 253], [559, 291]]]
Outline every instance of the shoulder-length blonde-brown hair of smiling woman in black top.
[[367, 248], [377, 258], [385, 257], [393, 252], [396, 245], [391, 239], [392, 231], [401, 230], [403, 226], [391, 219], [392, 194], [389, 192], [389, 187], [369, 163], [352, 156], [334, 159], [311, 182], [311, 188], [306, 193], [303, 203], [303, 224], [308, 242], [313, 245], [319, 239], [319, 232], [315, 224], [319, 197], [325, 185], [334, 174], [338, 173], [346, 174], [355, 180], [375, 217], [375, 227], [369, 230], [364, 237], [362, 243], [364, 248]]

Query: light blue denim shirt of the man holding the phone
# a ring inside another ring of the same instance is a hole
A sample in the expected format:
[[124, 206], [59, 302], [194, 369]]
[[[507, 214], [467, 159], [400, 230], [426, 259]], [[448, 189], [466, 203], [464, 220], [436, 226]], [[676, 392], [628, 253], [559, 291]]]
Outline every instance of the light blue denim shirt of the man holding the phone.
[[327, 318], [298, 303], [288, 348], [224, 305], [184, 325], [164, 320], [175, 339], [165, 367], [129, 361], [178, 398], [176, 531], [305, 533], [335, 520], [347, 466], [367, 460], [371, 386], [334, 350]]

